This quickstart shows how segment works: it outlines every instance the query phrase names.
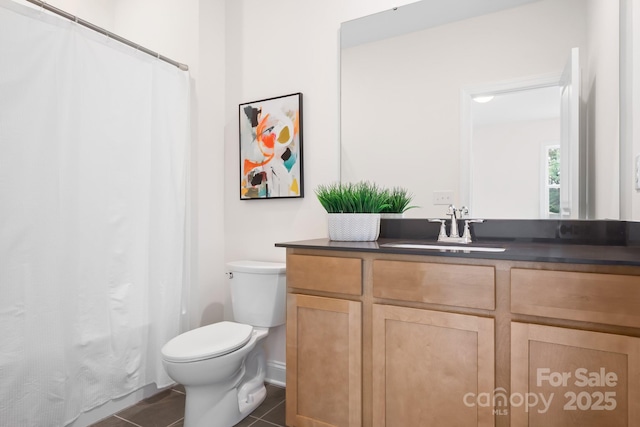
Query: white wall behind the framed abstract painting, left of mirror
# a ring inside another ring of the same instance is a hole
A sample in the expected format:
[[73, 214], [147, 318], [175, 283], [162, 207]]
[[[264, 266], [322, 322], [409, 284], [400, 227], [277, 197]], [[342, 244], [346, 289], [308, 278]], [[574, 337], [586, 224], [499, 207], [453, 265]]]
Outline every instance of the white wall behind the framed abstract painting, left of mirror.
[[[275, 243], [327, 235], [326, 214], [313, 190], [319, 184], [339, 179], [340, 23], [398, 5], [382, 0], [227, 2], [227, 261], [284, 261], [285, 250], [274, 247]], [[305, 197], [241, 201], [238, 105], [293, 92], [303, 94]], [[229, 300], [226, 301], [226, 314], [230, 316]], [[285, 362], [284, 327], [272, 331], [266, 348], [271, 361]]]

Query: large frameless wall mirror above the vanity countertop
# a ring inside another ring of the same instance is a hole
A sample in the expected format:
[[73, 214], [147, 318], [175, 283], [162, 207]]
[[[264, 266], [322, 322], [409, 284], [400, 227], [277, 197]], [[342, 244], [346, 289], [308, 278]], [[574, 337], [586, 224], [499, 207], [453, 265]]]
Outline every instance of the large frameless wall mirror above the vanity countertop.
[[341, 28], [341, 180], [442, 217], [619, 218], [619, 4], [423, 0]]

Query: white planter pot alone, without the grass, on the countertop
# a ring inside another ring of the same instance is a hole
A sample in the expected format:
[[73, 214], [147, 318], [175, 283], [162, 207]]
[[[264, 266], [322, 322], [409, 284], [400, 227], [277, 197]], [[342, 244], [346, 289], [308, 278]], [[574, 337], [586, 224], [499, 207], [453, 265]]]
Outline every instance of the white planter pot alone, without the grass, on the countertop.
[[371, 242], [380, 234], [380, 214], [329, 214], [329, 239]]

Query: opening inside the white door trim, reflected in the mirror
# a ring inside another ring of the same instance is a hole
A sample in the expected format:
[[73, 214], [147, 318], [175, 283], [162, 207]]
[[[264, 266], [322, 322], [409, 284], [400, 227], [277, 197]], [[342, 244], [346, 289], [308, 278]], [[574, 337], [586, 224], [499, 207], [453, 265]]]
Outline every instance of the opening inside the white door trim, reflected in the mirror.
[[472, 99], [473, 216], [560, 217], [560, 86]]

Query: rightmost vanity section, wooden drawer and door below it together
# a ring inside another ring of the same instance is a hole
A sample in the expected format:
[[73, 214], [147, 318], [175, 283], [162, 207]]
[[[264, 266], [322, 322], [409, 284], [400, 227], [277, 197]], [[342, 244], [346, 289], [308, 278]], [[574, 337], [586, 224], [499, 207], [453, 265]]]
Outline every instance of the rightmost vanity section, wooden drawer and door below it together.
[[[640, 276], [513, 268], [511, 311], [637, 334]], [[511, 324], [512, 427], [640, 425], [640, 338], [593, 330]]]

